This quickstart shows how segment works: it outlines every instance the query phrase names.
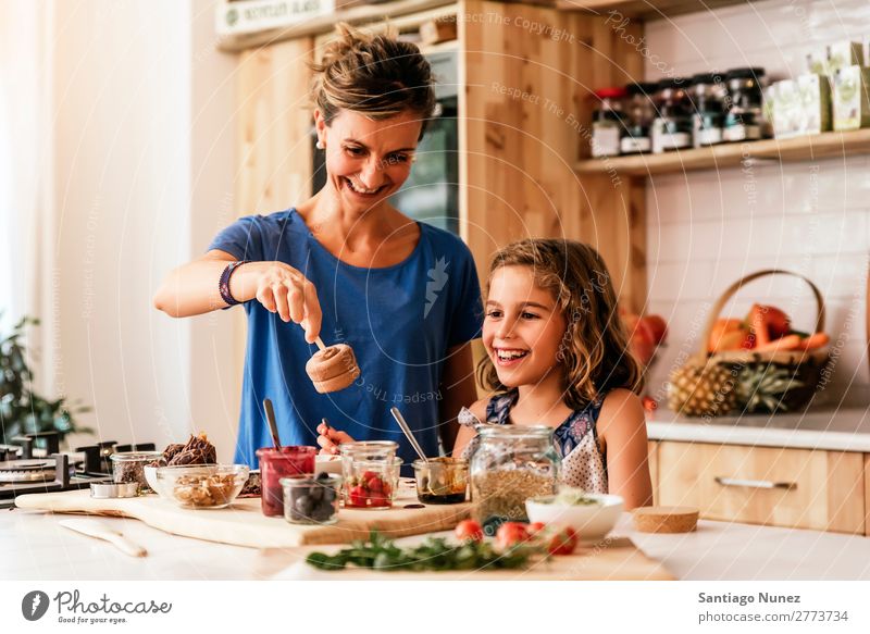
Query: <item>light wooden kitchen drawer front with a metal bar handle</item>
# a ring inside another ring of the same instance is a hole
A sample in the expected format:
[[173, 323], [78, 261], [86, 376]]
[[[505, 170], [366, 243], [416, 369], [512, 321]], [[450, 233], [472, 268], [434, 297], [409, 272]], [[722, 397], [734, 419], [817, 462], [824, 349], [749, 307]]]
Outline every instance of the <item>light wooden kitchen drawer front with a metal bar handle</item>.
[[662, 442], [658, 504], [703, 518], [863, 534], [863, 455]]

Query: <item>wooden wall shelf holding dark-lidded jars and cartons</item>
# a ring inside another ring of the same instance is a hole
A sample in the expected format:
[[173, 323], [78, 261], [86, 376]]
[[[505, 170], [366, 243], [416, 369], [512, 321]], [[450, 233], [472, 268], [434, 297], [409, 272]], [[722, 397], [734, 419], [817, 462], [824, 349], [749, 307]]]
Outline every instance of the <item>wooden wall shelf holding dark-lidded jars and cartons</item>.
[[709, 148], [637, 154], [580, 161], [579, 174], [652, 176], [700, 170], [738, 167], [744, 161], [790, 162], [837, 159], [870, 153], [870, 129], [826, 132], [792, 139], [766, 139], [746, 144], [724, 144]]

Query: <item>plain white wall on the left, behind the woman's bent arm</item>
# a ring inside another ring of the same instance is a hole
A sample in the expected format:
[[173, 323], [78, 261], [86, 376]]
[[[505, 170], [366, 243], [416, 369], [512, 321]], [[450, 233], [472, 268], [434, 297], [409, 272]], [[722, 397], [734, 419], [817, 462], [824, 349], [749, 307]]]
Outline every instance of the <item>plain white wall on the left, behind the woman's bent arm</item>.
[[151, 304], [160, 279], [232, 220], [236, 60], [214, 49], [214, 3], [48, 5], [54, 158], [37, 176], [53, 169], [53, 236], [39, 248], [53, 260], [41, 309], [57, 331], [41, 372], [96, 408], [80, 419], [103, 439], [162, 446], [202, 430], [228, 460], [232, 316], [174, 321]]

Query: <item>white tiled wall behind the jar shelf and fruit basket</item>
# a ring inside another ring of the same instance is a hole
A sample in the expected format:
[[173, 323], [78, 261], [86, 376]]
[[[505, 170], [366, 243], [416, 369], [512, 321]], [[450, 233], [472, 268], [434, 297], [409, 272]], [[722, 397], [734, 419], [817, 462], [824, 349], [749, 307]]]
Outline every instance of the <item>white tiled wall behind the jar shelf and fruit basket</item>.
[[[649, 23], [649, 50], [688, 75], [763, 66], [774, 78], [804, 71], [806, 53], [838, 39], [870, 36], [866, 0], [773, 0]], [[647, 77], [657, 79], [647, 66]], [[671, 323], [670, 346], [651, 376], [660, 390], [681, 355], [697, 346], [706, 309], [742, 275], [782, 268], [810, 277], [828, 302], [828, 332], [838, 356], [820, 406], [870, 402], [865, 335], [870, 252], [870, 160], [856, 157], [748, 170], [657, 176], [647, 189], [652, 312]], [[799, 282], [757, 282], [732, 302], [774, 303], [808, 327], [815, 304]], [[659, 391], [660, 394], [660, 391]]]

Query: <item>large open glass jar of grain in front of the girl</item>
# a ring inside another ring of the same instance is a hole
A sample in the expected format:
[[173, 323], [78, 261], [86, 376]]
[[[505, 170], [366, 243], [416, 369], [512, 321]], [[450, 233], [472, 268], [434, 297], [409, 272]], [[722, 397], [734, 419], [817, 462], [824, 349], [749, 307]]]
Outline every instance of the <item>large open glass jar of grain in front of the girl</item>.
[[481, 427], [470, 468], [475, 520], [484, 525], [527, 521], [525, 500], [556, 493], [561, 461], [552, 432], [543, 425]]

